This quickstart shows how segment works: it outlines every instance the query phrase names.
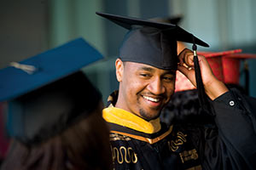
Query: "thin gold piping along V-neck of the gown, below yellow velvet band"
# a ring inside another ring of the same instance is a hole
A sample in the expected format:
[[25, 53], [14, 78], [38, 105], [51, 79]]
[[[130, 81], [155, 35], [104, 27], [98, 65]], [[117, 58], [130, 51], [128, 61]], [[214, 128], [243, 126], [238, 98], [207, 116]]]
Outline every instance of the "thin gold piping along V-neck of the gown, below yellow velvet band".
[[138, 139], [138, 140], [142, 140], [144, 142], [147, 142], [149, 144], [154, 144], [158, 141], [160, 141], [161, 139], [164, 139], [166, 138], [166, 136], [170, 133], [172, 133], [172, 126], [169, 128], [169, 130], [166, 132], [166, 133], [163, 133], [161, 134], [159, 137], [156, 137], [154, 139], [149, 139], [149, 138], [145, 138], [143, 136], [138, 136], [138, 135], [135, 135], [135, 134], [130, 134], [130, 133], [122, 133], [122, 132], [119, 132], [119, 131], [110, 131], [110, 133], [119, 133], [119, 134], [122, 134], [124, 136], [128, 136], [128, 137], [131, 137], [133, 139]]

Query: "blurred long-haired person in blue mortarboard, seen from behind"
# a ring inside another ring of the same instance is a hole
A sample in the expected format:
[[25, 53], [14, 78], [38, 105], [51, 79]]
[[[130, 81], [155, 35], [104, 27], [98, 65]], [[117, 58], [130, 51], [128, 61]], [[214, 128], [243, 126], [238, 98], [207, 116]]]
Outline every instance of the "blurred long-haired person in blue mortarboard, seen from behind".
[[98, 59], [78, 38], [0, 71], [12, 139], [2, 170], [111, 168], [102, 94], [79, 71]]

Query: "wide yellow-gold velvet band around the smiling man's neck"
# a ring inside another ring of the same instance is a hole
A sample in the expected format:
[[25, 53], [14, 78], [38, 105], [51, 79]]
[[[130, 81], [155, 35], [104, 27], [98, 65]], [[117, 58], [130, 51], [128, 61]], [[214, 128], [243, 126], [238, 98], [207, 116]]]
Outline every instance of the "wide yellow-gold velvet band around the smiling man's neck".
[[142, 133], [157, 133], [160, 131], [160, 118], [145, 121], [143, 118], [116, 107], [108, 107], [102, 111], [102, 116], [107, 122], [129, 127]]

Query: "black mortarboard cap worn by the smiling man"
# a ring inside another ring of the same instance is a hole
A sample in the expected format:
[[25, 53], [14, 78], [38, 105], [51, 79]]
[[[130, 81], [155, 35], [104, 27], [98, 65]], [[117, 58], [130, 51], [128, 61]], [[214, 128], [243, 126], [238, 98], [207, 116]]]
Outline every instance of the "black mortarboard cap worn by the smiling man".
[[177, 25], [114, 14], [96, 13], [130, 30], [119, 49], [119, 58], [152, 65], [160, 69], [177, 69], [177, 41], [209, 47], [206, 42]]

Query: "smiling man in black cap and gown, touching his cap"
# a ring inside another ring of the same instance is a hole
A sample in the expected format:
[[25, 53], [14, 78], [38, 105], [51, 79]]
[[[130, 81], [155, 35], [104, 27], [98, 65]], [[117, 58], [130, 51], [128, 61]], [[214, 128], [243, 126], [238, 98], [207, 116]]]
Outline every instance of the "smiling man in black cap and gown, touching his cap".
[[[250, 103], [218, 81], [203, 56], [177, 56], [177, 41], [207, 46], [178, 26], [97, 13], [130, 31], [116, 59], [119, 91], [109, 97], [103, 118], [110, 126], [114, 169], [253, 169], [256, 167], [255, 116]], [[195, 52], [194, 52], [195, 54]], [[197, 59], [197, 58], [195, 58]], [[196, 62], [195, 62], [196, 64]], [[192, 69], [191, 69], [192, 68]], [[166, 127], [160, 112], [170, 101], [176, 71], [203, 88], [212, 122]], [[255, 102], [255, 100], [253, 100]], [[252, 99], [249, 100], [252, 102]]]

